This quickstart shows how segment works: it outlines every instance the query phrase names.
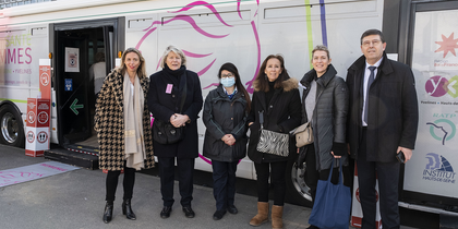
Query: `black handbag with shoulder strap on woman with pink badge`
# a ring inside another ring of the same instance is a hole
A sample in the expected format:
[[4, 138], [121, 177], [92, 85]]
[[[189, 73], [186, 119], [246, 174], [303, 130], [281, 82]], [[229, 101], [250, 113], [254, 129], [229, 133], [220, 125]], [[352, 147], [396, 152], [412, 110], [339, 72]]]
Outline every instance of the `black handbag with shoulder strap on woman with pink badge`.
[[[180, 87], [183, 88], [181, 93], [180, 113], [186, 100], [186, 73], [181, 76]], [[153, 140], [159, 144], [173, 144], [184, 138], [184, 126], [176, 128], [169, 120], [154, 120], [153, 122]]]

